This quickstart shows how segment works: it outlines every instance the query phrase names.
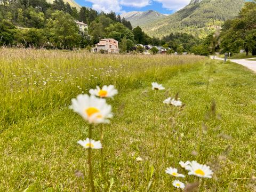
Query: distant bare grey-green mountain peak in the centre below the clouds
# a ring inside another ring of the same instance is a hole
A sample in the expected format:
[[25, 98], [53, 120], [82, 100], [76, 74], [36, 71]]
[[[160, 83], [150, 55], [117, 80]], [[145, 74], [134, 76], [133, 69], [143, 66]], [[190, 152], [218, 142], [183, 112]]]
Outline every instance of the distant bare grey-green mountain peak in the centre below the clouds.
[[157, 11], [132, 11], [128, 13], [121, 14], [121, 18], [125, 18], [130, 21], [133, 27], [145, 25], [146, 23], [151, 23], [153, 21], [167, 17]]

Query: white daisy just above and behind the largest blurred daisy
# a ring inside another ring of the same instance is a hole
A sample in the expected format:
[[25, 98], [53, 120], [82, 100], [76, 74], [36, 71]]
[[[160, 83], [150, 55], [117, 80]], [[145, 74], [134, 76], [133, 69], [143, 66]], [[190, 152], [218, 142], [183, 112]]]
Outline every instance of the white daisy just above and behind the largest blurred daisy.
[[100, 98], [113, 98], [118, 91], [115, 89], [114, 85], [104, 85], [102, 89], [100, 89], [99, 86], [96, 86], [96, 89], [90, 89], [89, 93]]

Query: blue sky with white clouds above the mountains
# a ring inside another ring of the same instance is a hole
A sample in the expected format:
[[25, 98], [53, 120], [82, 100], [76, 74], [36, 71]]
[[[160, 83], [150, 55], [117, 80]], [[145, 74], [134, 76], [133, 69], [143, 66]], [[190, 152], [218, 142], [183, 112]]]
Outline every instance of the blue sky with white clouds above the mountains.
[[118, 14], [130, 11], [154, 10], [171, 14], [189, 4], [190, 0], [75, 0], [81, 6], [103, 12], [114, 11]]

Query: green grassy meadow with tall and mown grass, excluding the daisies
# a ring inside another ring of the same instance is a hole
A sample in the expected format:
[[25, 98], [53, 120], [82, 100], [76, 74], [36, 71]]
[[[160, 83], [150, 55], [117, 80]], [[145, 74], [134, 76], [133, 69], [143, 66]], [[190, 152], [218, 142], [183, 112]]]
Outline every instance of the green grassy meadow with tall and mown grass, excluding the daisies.
[[[0, 50], [0, 191], [90, 191], [88, 125], [68, 107], [96, 85], [118, 90], [104, 130], [104, 168], [93, 150], [96, 191], [256, 191], [256, 74], [195, 55], [103, 55]], [[163, 91], [151, 89], [163, 84]], [[182, 108], [164, 105], [175, 97]], [[137, 158], [141, 157], [141, 161]], [[207, 164], [212, 179], [187, 175], [180, 161]], [[166, 174], [178, 168], [185, 178]], [[187, 190], [189, 191], [189, 190]]]

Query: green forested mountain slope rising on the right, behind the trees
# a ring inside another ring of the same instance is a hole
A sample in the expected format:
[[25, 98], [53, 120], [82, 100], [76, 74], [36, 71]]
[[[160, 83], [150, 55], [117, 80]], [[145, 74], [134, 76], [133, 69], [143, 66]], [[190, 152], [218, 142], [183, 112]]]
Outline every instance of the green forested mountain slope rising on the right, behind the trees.
[[192, 0], [174, 14], [145, 23], [141, 28], [156, 37], [177, 32], [205, 37], [220, 28], [224, 21], [235, 18], [244, 3], [244, 0]]

